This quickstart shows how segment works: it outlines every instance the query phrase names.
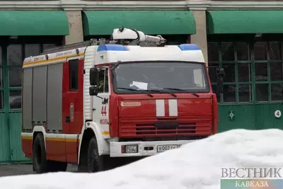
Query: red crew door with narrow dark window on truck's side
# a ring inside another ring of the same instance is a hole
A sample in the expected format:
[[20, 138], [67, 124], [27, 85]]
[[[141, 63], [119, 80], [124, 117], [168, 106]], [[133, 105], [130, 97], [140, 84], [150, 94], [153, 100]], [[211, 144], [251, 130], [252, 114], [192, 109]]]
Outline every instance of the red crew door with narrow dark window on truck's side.
[[71, 57], [64, 62], [63, 133], [66, 159], [77, 162], [79, 134], [83, 127], [83, 59]]

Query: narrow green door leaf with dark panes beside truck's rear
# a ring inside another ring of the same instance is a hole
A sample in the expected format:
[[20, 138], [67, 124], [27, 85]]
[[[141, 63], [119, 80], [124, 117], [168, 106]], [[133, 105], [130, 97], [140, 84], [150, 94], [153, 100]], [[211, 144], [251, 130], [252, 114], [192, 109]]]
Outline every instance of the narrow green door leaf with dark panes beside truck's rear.
[[10, 44], [5, 46], [7, 65], [6, 102], [8, 101], [8, 128], [10, 161], [24, 161], [25, 156], [21, 151], [21, 80], [23, 64], [23, 45]]

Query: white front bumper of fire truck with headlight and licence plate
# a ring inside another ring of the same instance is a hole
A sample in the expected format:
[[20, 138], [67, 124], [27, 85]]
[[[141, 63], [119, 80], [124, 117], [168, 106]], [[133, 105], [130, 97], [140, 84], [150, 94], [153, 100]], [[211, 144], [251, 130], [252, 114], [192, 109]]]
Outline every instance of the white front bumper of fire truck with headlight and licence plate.
[[[153, 141], [153, 142], [110, 142], [111, 157], [130, 156], [152, 156], [162, 151], [178, 148], [183, 144], [195, 142], [195, 140], [173, 140], [173, 141]], [[126, 146], [137, 147], [137, 152], [126, 153]]]

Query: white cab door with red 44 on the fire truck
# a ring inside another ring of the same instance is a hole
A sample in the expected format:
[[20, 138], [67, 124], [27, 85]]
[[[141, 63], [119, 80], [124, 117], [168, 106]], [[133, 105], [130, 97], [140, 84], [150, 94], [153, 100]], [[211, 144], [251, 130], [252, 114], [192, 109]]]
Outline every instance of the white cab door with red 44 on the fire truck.
[[93, 120], [100, 125], [104, 136], [109, 135], [109, 78], [108, 68], [98, 69], [98, 96], [93, 96]]

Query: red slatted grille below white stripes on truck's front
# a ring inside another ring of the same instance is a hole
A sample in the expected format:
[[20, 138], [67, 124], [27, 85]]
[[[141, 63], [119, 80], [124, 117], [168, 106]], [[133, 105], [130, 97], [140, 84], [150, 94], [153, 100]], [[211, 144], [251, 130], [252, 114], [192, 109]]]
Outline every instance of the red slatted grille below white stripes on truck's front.
[[144, 120], [144, 122], [127, 118], [127, 120], [120, 120], [120, 137], [209, 135], [211, 134], [211, 125], [211, 118]]

